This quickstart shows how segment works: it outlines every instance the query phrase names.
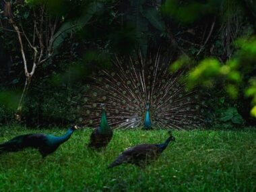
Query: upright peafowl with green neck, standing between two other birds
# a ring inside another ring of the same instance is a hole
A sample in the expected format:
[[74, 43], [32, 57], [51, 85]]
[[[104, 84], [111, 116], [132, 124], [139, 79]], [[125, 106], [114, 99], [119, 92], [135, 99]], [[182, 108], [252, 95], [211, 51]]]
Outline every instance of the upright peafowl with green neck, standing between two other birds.
[[104, 148], [108, 145], [112, 137], [113, 130], [108, 125], [108, 120], [106, 119], [106, 106], [102, 104], [100, 126], [92, 132], [88, 146], [90, 148]]

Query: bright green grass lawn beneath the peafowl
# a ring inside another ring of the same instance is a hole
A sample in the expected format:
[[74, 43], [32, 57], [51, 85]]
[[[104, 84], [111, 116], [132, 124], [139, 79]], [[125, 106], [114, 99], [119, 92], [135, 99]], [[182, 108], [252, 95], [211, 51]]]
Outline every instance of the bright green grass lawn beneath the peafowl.
[[[0, 142], [28, 130], [0, 127]], [[78, 130], [44, 160], [36, 150], [0, 156], [0, 191], [256, 191], [256, 129], [174, 131], [160, 158], [144, 169], [123, 164], [106, 169], [120, 152], [160, 143], [167, 131], [115, 131], [102, 151], [86, 148], [92, 130]]]

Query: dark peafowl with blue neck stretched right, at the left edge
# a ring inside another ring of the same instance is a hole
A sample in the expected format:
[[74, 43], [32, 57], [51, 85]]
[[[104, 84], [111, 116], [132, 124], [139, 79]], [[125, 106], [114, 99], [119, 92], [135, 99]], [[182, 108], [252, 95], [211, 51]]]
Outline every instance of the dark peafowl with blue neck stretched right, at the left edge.
[[3, 152], [18, 152], [25, 148], [36, 148], [42, 155], [42, 158], [44, 158], [55, 152], [62, 143], [71, 137], [76, 129], [78, 129], [77, 125], [70, 127], [63, 136], [40, 133], [20, 135], [0, 144], [0, 154]]

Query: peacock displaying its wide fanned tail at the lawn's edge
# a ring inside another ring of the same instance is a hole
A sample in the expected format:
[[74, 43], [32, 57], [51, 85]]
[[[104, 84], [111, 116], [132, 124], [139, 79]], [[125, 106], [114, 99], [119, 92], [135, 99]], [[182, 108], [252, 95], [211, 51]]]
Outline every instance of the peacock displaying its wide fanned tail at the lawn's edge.
[[[113, 129], [189, 129], [203, 123], [205, 101], [202, 92], [188, 92], [180, 77], [185, 70], [169, 71], [171, 59], [158, 51], [156, 56], [113, 59], [110, 70], [92, 75], [92, 83], [78, 102], [79, 118], [87, 127], [100, 122], [99, 103], [108, 107], [108, 123]], [[77, 101], [77, 99], [76, 99]]]

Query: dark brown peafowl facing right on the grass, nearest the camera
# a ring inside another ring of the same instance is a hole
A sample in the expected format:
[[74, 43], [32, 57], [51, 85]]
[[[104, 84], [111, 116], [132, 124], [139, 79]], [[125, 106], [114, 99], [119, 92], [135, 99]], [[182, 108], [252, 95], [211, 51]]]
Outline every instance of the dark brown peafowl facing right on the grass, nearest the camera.
[[156, 160], [166, 149], [170, 141], [175, 141], [172, 133], [169, 132], [170, 136], [164, 143], [161, 144], [141, 144], [133, 148], [129, 148], [122, 152], [117, 159], [112, 162], [108, 168], [119, 166], [123, 163], [135, 164], [137, 166], [146, 166], [149, 162]]

